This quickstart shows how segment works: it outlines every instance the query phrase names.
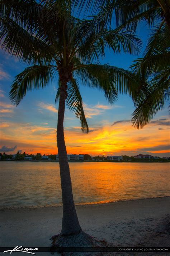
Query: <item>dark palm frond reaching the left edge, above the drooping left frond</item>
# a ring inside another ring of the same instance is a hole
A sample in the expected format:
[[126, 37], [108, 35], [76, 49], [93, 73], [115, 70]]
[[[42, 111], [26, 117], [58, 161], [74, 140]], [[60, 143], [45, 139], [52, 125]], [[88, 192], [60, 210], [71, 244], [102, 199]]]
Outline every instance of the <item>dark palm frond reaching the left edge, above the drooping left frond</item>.
[[12, 19], [0, 18], [0, 31], [2, 49], [16, 58], [26, 63], [37, 62], [38, 59], [44, 62], [52, 60], [50, 45], [30, 34]]

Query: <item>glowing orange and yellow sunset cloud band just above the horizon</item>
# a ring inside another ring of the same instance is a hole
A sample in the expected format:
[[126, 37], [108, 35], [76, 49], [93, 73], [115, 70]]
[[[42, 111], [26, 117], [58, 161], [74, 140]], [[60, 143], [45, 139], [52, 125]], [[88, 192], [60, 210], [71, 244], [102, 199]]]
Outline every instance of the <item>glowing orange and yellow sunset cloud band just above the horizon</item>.
[[[162, 125], [165, 127], [166, 123]], [[169, 130], [159, 130], [160, 126], [155, 125], [155, 122], [140, 130], [134, 129], [126, 120], [117, 122], [114, 126], [108, 123], [103, 127], [90, 127], [89, 134], [83, 134], [80, 126], [66, 128], [67, 153], [131, 156], [141, 152], [153, 152], [157, 155], [169, 152]], [[1, 138], [3, 145], [15, 144], [27, 153], [57, 153], [55, 127], [36, 126], [30, 123], [4, 123], [4, 127], [1, 127]]]

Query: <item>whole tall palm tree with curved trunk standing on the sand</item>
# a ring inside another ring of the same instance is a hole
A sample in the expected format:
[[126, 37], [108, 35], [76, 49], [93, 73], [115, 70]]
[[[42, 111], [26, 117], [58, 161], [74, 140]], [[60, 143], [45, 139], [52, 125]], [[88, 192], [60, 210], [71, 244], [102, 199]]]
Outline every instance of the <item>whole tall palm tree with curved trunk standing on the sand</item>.
[[137, 54], [141, 41], [126, 31], [109, 29], [102, 9], [91, 19], [72, 16], [70, 0], [43, 1], [41, 4], [34, 0], [4, 0], [2, 3], [2, 48], [31, 65], [15, 77], [10, 90], [11, 102], [18, 105], [27, 91], [43, 88], [59, 77], [57, 146], [63, 219], [56, 244], [68, 246], [72, 237], [76, 245], [89, 244], [91, 238], [81, 230], [72, 194], [63, 131], [65, 104], [80, 119], [82, 132], [88, 133], [79, 82], [102, 90], [110, 104], [115, 102], [118, 92], [132, 95], [136, 76], [98, 62], [104, 57], [106, 47], [116, 53], [123, 50]]

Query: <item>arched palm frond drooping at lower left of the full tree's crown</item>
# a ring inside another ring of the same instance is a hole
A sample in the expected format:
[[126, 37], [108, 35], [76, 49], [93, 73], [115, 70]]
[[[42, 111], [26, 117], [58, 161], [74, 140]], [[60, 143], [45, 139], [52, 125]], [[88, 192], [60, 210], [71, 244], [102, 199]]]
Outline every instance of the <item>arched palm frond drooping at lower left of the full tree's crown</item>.
[[27, 91], [40, 89], [47, 86], [55, 77], [56, 67], [48, 66], [32, 66], [25, 68], [23, 72], [15, 77], [9, 97], [12, 103], [18, 105], [26, 95]]

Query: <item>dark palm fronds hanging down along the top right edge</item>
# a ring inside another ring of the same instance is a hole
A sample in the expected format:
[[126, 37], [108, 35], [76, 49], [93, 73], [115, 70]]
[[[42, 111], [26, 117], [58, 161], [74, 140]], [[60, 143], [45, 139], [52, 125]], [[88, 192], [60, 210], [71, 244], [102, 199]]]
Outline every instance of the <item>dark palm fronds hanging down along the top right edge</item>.
[[103, 12], [109, 14], [108, 20], [115, 16], [116, 27], [136, 30], [138, 22], [146, 21], [148, 25], [164, 20], [170, 30], [170, 0], [73, 0], [73, 4], [91, 13], [96, 12], [99, 6]]

